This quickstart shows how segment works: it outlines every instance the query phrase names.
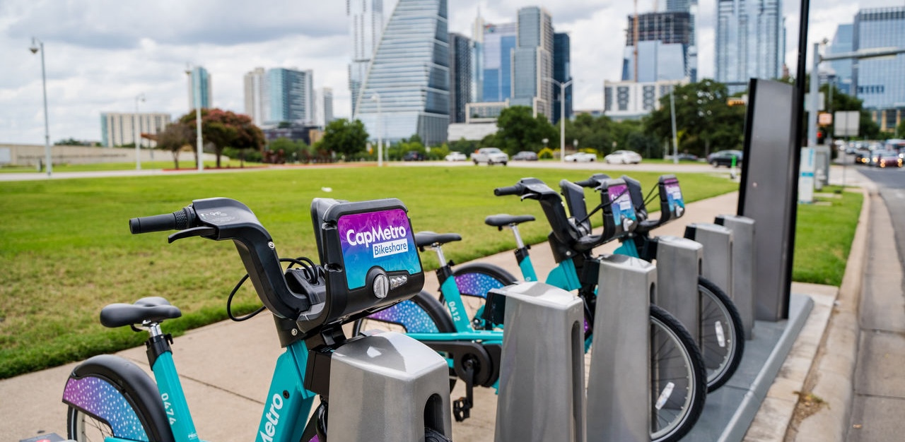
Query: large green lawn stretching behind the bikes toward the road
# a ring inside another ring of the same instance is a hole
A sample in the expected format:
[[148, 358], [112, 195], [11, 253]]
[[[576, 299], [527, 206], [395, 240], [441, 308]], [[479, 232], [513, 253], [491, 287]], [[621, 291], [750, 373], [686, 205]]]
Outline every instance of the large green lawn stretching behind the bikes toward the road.
[[[100, 326], [98, 312], [109, 303], [165, 296], [184, 314], [167, 326], [175, 334], [226, 317], [226, 296], [244, 274], [233, 244], [167, 244], [162, 232], [133, 236], [129, 218], [173, 212], [193, 199], [230, 197], [252, 208], [282, 257], [315, 257], [313, 198], [395, 197], [408, 206], [415, 230], [461, 233], [463, 240], [444, 251], [447, 259], [463, 262], [513, 247], [511, 235], [483, 224], [486, 215], [531, 213], [543, 220], [537, 202], [495, 197], [494, 187], [534, 176], [556, 188], [560, 179], [588, 175], [505, 167], [302, 167], [0, 183], [0, 379], [142, 343], [143, 334]], [[645, 190], [657, 176], [633, 174]], [[724, 174], [679, 177], [690, 202], [738, 188]], [[588, 204], [596, 198], [589, 194]], [[815, 220], [825, 221], [832, 220]], [[538, 243], [546, 240], [548, 226], [531, 222], [520, 230]], [[847, 252], [846, 247], [843, 257]], [[436, 268], [433, 254], [422, 258], [425, 269]], [[243, 289], [233, 306], [249, 311], [260, 302]]]

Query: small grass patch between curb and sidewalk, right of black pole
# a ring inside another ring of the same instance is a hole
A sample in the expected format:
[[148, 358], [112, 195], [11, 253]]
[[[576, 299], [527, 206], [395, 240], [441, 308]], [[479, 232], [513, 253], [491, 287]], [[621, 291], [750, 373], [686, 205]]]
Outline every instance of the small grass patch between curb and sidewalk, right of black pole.
[[814, 204], [798, 205], [792, 266], [795, 281], [842, 285], [863, 195], [832, 193], [839, 189], [838, 186], [824, 188], [824, 192], [835, 196], [817, 196]]

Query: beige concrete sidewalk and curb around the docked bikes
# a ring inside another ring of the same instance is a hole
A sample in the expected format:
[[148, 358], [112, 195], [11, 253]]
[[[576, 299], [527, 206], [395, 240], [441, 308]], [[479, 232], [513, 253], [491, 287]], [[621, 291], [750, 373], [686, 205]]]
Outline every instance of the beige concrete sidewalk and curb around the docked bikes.
[[[853, 182], [853, 175], [855, 174], [850, 170], [850, 184]], [[688, 223], [712, 222], [718, 214], [734, 213], [737, 198], [738, 193], [729, 193], [692, 202], [688, 204], [687, 214], [680, 222], [668, 224], [657, 233], [682, 236], [684, 226]], [[859, 238], [856, 236], [855, 241], [859, 241]], [[465, 237], [464, 240], [467, 241], [468, 238]], [[615, 246], [610, 244], [597, 251], [610, 252]], [[532, 246], [531, 252], [538, 269], [553, 267], [547, 243]], [[857, 260], [857, 257], [853, 258]], [[500, 265], [519, 275], [510, 251], [481, 261]], [[850, 259], [849, 265], [857, 266], [859, 263]], [[546, 274], [545, 271], [540, 273], [538, 277], [542, 280]], [[436, 287], [437, 283], [431, 272], [427, 274], [425, 289], [436, 292]], [[845, 287], [847, 286], [843, 282], [843, 289]], [[860, 285], [857, 289], [860, 292]], [[786, 365], [780, 371], [780, 377], [773, 382], [768, 399], [758, 412], [745, 440], [781, 440], [786, 433], [797, 399], [796, 394], [792, 397], [793, 392], [804, 390], [802, 386], [805, 375], [812, 370], [811, 365], [818, 346], [822, 343], [824, 329], [838, 292], [835, 287], [799, 284], [794, 284], [792, 291], [811, 296], [814, 299], [814, 311], [807, 319], [805, 330], [795, 341]], [[843, 294], [840, 295], [842, 296]], [[833, 343], [823, 343], [823, 346], [831, 344]], [[281, 354], [271, 318], [259, 315], [243, 323], [224, 321], [208, 325], [176, 338], [173, 348], [176, 368], [180, 371], [198, 434], [205, 440], [253, 440], [264, 407], [263, 397], [270, 384], [273, 364]], [[147, 369], [143, 347], [118, 354]], [[71, 363], [0, 381], [0, 439], [16, 441], [54, 432], [64, 436], [66, 407], [60, 398], [63, 383], [75, 365]], [[457, 398], [463, 392], [462, 382], [458, 382], [452, 397]], [[476, 406], [472, 409], [472, 418], [464, 423], [453, 423], [453, 440], [457, 442], [488, 441], [493, 438], [496, 396], [491, 389], [484, 388], [476, 388], [474, 393]], [[847, 407], [848, 404], [838, 404], [832, 409]], [[780, 408], [782, 409], [779, 410]], [[817, 433], [822, 431], [835, 431], [835, 428], [824, 426], [814, 429]], [[837, 438], [830, 434], [827, 432], [826, 437], [820, 440]]]

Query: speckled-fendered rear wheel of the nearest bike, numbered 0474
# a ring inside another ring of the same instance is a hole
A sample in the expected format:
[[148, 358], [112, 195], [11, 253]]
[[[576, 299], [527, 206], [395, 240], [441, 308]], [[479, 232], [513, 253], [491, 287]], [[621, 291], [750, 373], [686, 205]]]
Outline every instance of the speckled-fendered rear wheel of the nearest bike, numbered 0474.
[[[98, 397], [103, 398], [103, 407], [98, 407]], [[72, 440], [175, 440], [157, 386], [122, 358], [100, 355], [82, 362], [72, 371], [63, 401], [69, 408], [66, 432]]]

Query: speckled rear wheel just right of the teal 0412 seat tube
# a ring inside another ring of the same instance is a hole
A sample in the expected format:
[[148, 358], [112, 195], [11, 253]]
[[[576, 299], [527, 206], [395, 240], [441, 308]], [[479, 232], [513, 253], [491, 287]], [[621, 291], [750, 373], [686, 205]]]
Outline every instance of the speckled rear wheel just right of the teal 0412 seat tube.
[[491, 324], [484, 324], [481, 319], [487, 292], [518, 281], [505, 269], [481, 262], [456, 267], [452, 271], [452, 277], [455, 277], [456, 287], [459, 287], [459, 293], [462, 295], [462, 304], [465, 305], [465, 311], [475, 330], [493, 328]]

